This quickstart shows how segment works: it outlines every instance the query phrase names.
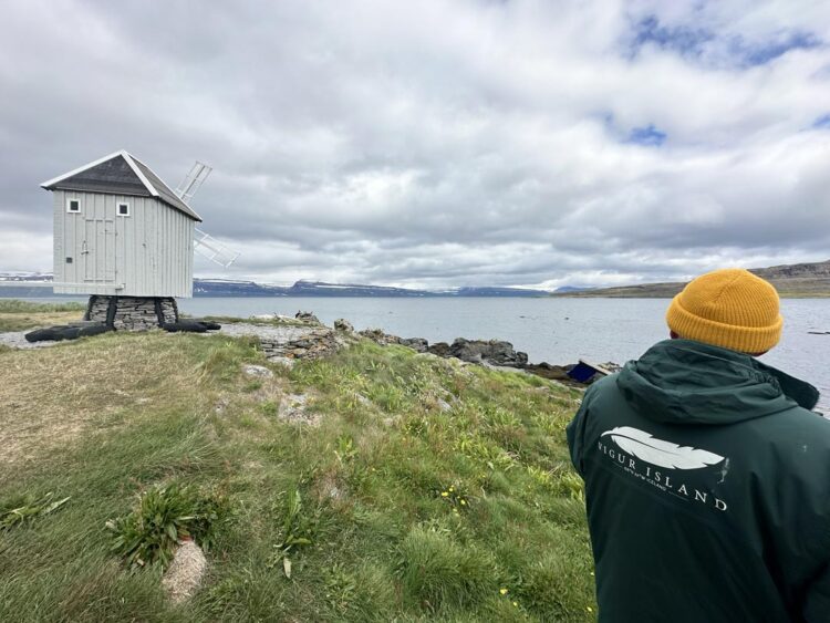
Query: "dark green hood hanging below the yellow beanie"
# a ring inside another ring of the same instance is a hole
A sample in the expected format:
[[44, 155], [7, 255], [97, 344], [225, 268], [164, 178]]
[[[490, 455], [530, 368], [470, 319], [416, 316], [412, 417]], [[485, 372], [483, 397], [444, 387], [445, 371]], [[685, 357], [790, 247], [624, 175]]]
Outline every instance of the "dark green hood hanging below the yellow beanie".
[[692, 340], [656, 343], [616, 384], [641, 415], [666, 424], [734, 424], [819, 399], [812, 385], [750, 355]]

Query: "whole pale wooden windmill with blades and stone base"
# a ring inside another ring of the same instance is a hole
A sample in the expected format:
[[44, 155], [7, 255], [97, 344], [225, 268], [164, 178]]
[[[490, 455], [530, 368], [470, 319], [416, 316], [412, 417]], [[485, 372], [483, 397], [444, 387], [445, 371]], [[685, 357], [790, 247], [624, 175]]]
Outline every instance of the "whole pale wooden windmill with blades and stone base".
[[86, 320], [114, 329], [176, 322], [194, 248], [224, 267], [239, 255], [196, 228], [188, 201], [210, 170], [196, 163], [174, 191], [121, 150], [41, 184], [54, 195], [54, 292], [90, 294]]

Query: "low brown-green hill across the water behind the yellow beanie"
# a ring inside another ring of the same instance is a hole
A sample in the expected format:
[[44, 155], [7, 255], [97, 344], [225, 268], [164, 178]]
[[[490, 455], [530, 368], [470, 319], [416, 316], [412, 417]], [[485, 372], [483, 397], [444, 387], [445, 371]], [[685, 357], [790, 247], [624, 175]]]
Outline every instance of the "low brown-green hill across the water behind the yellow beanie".
[[[830, 297], [830, 260], [782, 264], [769, 268], [753, 268], [750, 272], [766, 279], [781, 297], [823, 298]], [[686, 285], [687, 281], [642, 283], [570, 292], [554, 292], [554, 297], [608, 297], [615, 299], [671, 299]]]

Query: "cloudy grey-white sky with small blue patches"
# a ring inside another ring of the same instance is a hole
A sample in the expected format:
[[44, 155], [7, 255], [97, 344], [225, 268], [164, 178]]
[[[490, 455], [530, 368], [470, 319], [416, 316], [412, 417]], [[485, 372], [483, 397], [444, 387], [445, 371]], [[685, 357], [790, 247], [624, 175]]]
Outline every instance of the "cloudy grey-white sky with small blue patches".
[[124, 148], [200, 277], [614, 284], [830, 259], [830, 2], [2, 2], [0, 271]]

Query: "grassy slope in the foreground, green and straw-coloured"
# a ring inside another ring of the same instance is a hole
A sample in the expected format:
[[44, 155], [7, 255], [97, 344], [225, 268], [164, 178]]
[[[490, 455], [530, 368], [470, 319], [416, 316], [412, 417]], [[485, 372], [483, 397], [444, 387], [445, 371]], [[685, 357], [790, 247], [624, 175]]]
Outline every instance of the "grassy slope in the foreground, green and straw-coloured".
[[[288, 370], [162, 332], [3, 351], [0, 370], [0, 518], [70, 498], [0, 522], [0, 621], [594, 620], [577, 391], [369, 342]], [[229, 509], [181, 606], [105, 528], [172, 484]]]

